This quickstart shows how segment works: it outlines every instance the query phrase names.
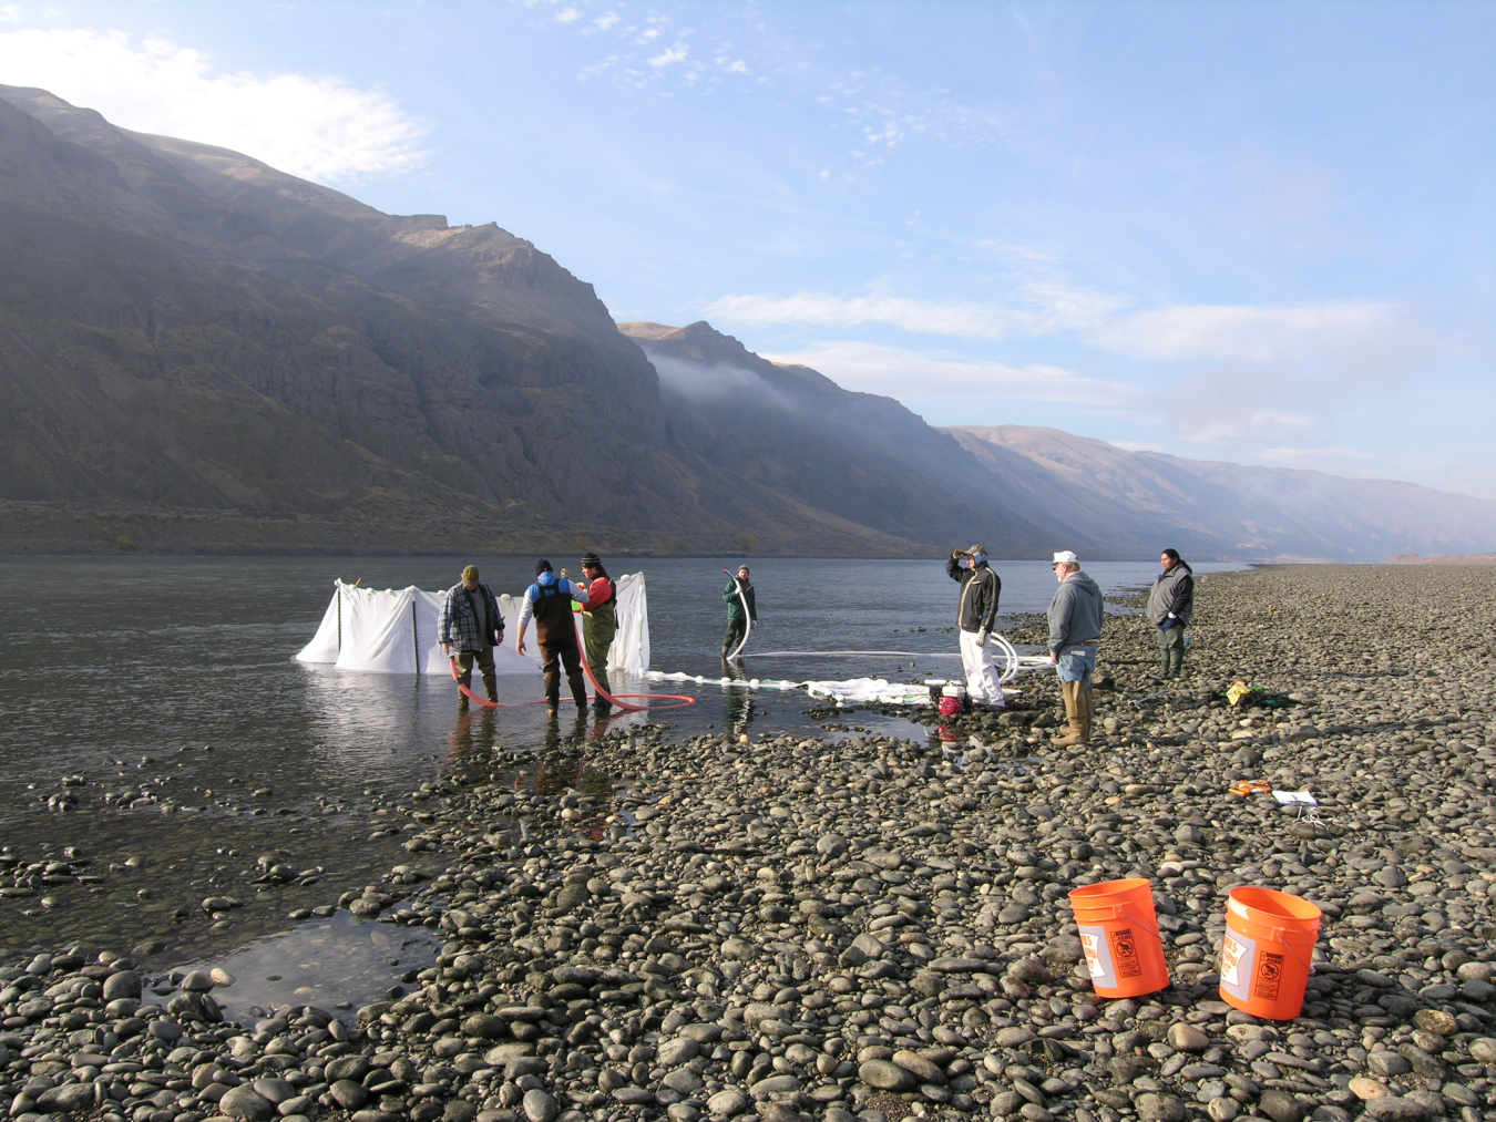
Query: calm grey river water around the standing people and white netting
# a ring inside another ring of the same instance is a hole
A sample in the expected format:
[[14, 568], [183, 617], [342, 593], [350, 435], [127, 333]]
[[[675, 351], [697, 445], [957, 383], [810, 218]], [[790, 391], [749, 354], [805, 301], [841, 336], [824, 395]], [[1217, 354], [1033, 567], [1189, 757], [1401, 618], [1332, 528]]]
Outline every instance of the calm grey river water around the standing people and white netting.
[[[438, 589], [474, 561], [497, 592], [534, 573], [521, 558], [0, 558], [0, 963], [81, 945], [165, 968], [221, 962], [244, 977], [235, 1001], [367, 999], [429, 960], [420, 938], [290, 913], [373, 884], [402, 860], [380, 809], [408, 802], [462, 755], [492, 757], [519, 787], [546, 776], [548, 747], [585, 745], [595, 726], [543, 706], [459, 717], [449, 679], [340, 672], [293, 660], [332, 595], [332, 580]], [[568, 558], [557, 557], [560, 568]], [[729, 561], [727, 564], [736, 564]], [[1043, 561], [996, 561], [1004, 615], [1041, 612], [1053, 594]], [[721, 675], [727, 577], [721, 562], [649, 558], [652, 666]], [[1230, 565], [1200, 565], [1213, 571]], [[1156, 565], [1086, 565], [1112, 594]], [[760, 627], [747, 673], [779, 679], [959, 676], [954, 585], [941, 561], [755, 560]], [[754, 651], [910, 651], [922, 657], [754, 658]], [[633, 682], [682, 693], [660, 715], [676, 735], [732, 727], [824, 735], [802, 693], [745, 696], [720, 685]], [[540, 696], [539, 678], [500, 678], [501, 700]], [[613, 718], [642, 723], [642, 715]], [[919, 724], [856, 714], [859, 726], [923, 736]], [[606, 779], [607, 776], [601, 776]], [[163, 812], [171, 806], [171, 812]], [[254, 886], [262, 863], [299, 874]], [[3, 895], [13, 893], [13, 895]], [[203, 910], [208, 898], [244, 907]], [[281, 963], [280, 968], [272, 968]], [[229, 992], [224, 992], [227, 996]]]

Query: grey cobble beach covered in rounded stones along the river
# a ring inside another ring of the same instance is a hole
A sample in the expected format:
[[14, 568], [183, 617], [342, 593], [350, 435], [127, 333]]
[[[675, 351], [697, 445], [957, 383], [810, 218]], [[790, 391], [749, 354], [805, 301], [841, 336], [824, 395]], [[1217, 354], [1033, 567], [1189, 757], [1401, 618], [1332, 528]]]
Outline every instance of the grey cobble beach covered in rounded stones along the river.
[[[1493, 594], [1490, 568], [1201, 577], [1179, 681], [1109, 618], [1083, 749], [1049, 747], [1035, 675], [920, 739], [607, 733], [545, 766], [612, 785], [560, 796], [459, 758], [398, 808], [407, 863], [323, 905], [444, 936], [408, 992], [238, 1025], [233, 978], [127, 947], [10, 960], [10, 1116], [1496, 1121]], [[1227, 705], [1239, 678], [1278, 708]], [[1116, 877], [1152, 880], [1173, 984], [1101, 1001], [1067, 892]], [[1219, 999], [1242, 884], [1324, 910], [1297, 1020]]]

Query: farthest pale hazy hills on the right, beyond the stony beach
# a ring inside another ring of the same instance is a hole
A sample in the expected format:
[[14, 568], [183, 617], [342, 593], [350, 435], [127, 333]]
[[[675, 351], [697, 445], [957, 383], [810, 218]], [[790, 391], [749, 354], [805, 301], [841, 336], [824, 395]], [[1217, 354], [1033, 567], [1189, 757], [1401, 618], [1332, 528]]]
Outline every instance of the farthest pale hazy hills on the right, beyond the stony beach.
[[1384, 479], [1126, 452], [1052, 428], [942, 429], [993, 486], [1065, 524], [1097, 557], [1384, 561], [1496, 543], [1496, 503]]

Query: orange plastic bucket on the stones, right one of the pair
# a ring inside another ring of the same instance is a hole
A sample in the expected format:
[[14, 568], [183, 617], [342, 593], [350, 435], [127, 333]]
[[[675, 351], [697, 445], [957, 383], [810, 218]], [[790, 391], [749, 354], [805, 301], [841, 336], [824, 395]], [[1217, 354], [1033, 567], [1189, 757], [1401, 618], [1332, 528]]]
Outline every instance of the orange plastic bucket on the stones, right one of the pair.
[[1293, 1020], [1305, 1005], [1305, 984], [1319, 908], [1273, 889], [1231, 889], [1221, 944], [1221, 998], [1254, 1017]]

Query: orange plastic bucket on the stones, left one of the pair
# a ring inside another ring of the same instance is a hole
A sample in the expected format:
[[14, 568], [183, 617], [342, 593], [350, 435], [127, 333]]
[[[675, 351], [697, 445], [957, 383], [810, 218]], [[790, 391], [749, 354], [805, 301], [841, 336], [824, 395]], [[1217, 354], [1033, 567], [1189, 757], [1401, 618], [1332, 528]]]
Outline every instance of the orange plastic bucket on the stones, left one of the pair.
[[1101, 998], [1135, 998], [1168, 986], [1153, 886], [1141, 877], [1086, 884], [1070, 893], [1091, 984]]

